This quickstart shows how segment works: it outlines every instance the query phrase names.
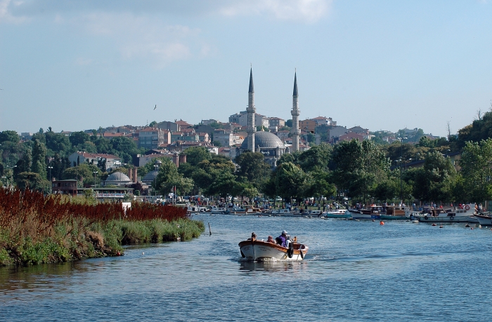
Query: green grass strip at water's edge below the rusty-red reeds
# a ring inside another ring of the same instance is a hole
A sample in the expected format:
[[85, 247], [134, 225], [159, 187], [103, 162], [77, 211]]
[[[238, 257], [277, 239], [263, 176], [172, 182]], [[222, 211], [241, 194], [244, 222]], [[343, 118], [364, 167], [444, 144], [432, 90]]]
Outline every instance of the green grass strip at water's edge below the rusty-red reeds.
[[37, 241], [30, 236], [13, 238], [1, 229], [0, 265], [44, 264], [122, 255], [122, 245], [188, 241], [204, 231], [203, 222], [189, 219], [173, 222], [112, 220], [105, 224], [75, 220], [58, 224], [53, 236]]

